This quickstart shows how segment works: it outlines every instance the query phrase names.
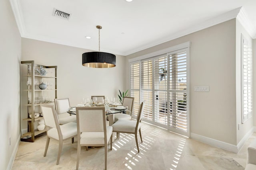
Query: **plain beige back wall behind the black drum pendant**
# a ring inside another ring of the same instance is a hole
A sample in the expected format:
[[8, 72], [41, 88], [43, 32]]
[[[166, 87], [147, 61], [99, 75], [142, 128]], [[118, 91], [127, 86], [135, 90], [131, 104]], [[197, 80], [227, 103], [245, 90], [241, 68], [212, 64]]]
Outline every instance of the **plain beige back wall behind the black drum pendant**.
[[[113, 68], [88, 68], [82, 66], [82, 53], [85, 52], [88, 50], [22, 38], [22, 61], [58, 66], [58, 98], [69, 98], [71, 106], [93, 95], [117, 98], [118, 89], [124, 90], [125, 57], [116, 55], [116, 67]], [[22, 123], [24, 128], [25, 122]]]

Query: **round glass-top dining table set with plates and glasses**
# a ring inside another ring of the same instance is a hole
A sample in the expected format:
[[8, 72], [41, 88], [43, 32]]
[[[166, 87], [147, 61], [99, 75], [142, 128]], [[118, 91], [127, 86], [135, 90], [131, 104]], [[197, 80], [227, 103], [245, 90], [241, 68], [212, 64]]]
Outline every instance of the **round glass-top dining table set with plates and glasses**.
[[105, 107], [106, 115], [107, 115], [107, 120], [108, 120], [108, 125], [111, 126], [114, 123], [115, 117], [114, 114], [116, 113], [124, 113], [128, 109], [127, 107], [123, 106], [120, 107], [120, 104], [91, 104], [91, 105], [84, 105], [84, 104], [79, 104], [75, 107], [70, 107], [67, 110], [67, 113], [70, 113], [72, 115], [76, 115], [76, 107]]

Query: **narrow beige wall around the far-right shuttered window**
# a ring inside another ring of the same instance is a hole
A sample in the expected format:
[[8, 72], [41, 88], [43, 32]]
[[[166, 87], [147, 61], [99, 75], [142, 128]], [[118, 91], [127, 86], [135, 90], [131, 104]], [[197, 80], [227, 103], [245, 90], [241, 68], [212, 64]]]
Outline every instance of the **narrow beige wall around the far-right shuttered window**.
[[[236, 20], [236, 141], [239, 143], [242, 138], [253, 127], [253, 118], [248, 119], [242, 123], [242, 109], [241, 109], [241, 33], [250, 43], [252, 38], [246, 32], [241, 23]], [[239, 125], [239, 129], [238, 129]]]

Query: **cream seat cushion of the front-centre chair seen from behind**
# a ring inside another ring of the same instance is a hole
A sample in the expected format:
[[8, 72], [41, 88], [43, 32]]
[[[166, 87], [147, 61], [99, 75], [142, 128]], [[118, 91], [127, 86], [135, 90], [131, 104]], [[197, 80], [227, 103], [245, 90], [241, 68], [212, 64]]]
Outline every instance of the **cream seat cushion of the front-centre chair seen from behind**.
[[[109, 141], [113, 128], [112, 126], [107, 126], [106, 128], [106, 136], [107, 136], [107, 142]], [[80, 145], [104, 145], [104, 132], [82, 132], [81, 133], [81, 139], [80, 139]]]

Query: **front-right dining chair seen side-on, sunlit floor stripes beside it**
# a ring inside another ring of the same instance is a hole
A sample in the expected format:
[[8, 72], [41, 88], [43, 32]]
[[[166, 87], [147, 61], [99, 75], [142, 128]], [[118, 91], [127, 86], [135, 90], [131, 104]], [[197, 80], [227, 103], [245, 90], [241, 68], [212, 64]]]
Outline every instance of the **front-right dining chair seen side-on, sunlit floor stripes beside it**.
[[113, 132], [116, 132], [116, 138], [119, 139], [119, 133], [132, 133], [135, 135], [136, 145], [138, 152], [140, 152], [139, 145], [138, 145], [138, 132], [140, 133], [140, 140], [142, 143], [142, 136], [141, 136], [141, 130], [140, 130], [140, 123], [142, 119], [144, 111], [144, 101], [140, 104], [138, 114], [137, 114], [137, 120], [126, 120], [126, 119], [119, 119], [116, 121], [112, 127]]

